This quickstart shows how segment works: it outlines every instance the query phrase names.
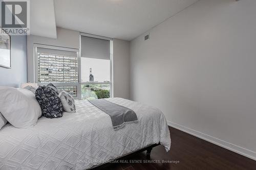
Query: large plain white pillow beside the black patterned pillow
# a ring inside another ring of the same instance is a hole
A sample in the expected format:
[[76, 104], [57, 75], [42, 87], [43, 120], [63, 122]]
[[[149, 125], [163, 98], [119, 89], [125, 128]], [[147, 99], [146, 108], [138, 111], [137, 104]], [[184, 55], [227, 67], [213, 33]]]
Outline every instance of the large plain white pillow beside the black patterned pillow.
[[41, 108], [33, 92], [0, 86], [0, 112], [16, 128], [31, 128], [41, 116]]

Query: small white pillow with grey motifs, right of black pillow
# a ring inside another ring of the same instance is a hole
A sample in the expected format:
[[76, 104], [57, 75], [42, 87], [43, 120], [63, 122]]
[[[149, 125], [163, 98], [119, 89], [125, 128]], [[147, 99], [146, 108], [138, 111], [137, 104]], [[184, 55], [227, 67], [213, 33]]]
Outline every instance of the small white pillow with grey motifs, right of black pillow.
[[59, 99], [63, 105], [63, 109], [66, 112], [75, 113], [76, 106], [75, 101], [72, 95], [70, 95], [67, 91], [62, 90], [59, 92]]

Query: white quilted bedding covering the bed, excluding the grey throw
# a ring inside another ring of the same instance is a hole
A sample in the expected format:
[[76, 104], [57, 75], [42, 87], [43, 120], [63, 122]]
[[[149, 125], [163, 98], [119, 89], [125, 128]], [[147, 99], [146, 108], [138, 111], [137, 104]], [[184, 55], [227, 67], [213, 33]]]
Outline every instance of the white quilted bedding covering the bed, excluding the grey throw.
[[41, 117], [30, 129], [3, 127], [0, 169], [88, 169], [154, 143], [170, 149], [159, 109], [121, 98], [107, 100], [134, 110], [139, 123], [114, 131], [108, 114], [88, 101], [76, 101], [77, 113]]

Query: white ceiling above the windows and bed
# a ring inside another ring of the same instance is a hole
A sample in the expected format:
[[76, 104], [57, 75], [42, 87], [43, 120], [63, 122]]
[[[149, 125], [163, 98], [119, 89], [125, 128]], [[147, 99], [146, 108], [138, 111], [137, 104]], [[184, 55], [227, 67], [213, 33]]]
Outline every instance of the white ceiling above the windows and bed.
[[[53, 1], [54, 10], [51, 9], [49, 1]], [[37, 20], [44, 22], [44, 27], [47, 24], [46, 22], [49, 22], [51, 28], [54, 26], [52, 24], [54, 21], [55, 32], [53, 33], [55, 33], [55, 37], [57, 26], [105, 37], [132, 40], [197, 1], [44, 0], [42, 2], [47, 5], [47, 8], [44, 8], [44, 10], [47, 9], [49, 12], [42, 12], [44, 18]], [[44, 5], [37, 6], [40, 9], [42, 7]], [[34, 9], [34, 13], [36, 11]], [[33, 14], [33, 11], [31, 13]], [[36, 27], [40, 27], [40, 24], [37, 23]], [[33, 28], [31, 28], [32, 30], [34, 31]], [[44, 32], [43, 29], [39, 30], [39, 34], [44, 34], [42, 33]], [[52, 36], [49, 32], [46, 32], [46, 34], [48, 34], [47, 37]]]

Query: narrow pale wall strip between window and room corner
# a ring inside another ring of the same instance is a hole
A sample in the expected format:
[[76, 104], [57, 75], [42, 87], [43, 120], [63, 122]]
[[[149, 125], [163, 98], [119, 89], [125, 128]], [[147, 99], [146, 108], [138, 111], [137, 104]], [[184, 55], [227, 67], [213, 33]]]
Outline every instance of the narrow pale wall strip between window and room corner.
[[130, 99], [130, 42], [113, 40], [114, 97]]

